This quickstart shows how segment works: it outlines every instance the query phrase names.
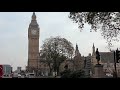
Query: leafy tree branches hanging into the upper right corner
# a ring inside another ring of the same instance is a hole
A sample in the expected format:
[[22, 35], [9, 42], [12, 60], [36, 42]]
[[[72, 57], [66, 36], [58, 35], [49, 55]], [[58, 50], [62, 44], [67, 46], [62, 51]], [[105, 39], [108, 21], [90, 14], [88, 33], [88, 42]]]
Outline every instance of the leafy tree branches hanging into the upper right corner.
[[112, 45], [111, 41], [118, 41], [120, 12], [70, 12], [69, 18], [78, 23], [80, 30], [85, 23], [91, 25], [91, 30], [100, 29], [109, 45]]

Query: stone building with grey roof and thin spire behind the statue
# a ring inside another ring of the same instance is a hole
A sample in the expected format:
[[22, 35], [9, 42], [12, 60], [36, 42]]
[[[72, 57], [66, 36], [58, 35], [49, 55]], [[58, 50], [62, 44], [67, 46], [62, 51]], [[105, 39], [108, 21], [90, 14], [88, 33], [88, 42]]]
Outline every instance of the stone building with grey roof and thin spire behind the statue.
[[[94, 74], [94, 65], [97, 64], [96, 55], [95, 55], [95, 46], [93, 44], [92, 48], [92, 57], [91, 57], [91, 67], [92, 67], [92, 73]], [[105, 74], [113, 74], [113, 71], [115, 70], [114, 67], [114, 52], [100, 52], [100, 64], [103, 65], [103, 71]], [[117, 68], [117, 74], [120, 77], [120, 63], [116, 64]]]

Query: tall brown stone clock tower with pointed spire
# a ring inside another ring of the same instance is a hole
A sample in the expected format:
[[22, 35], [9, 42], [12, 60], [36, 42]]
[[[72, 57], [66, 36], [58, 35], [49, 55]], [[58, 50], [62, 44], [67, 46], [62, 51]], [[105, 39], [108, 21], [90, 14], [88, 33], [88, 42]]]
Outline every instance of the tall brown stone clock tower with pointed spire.
[[28, 70], [38, 68], [39, 57], [39, 25], [33, 12], [32, 20], [28, 28]]

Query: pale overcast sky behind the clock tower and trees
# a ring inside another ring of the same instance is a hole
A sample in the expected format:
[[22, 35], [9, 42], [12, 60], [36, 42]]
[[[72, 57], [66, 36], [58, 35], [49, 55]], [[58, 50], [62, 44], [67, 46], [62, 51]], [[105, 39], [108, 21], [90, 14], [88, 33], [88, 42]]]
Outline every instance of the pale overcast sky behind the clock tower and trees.
[[[89, 25], [85, 25], [80, 32], [78, 25], [68, 15], [69, 12], [36, 12], [40, 27], [39, 47], [46, 38], [61, 36], [74, 47], [77, 43], [82, 56], [92, 53], [93, 43], [99, 51], [108, 51], [106, 40], [100, 32], [91, 33]], [[17, 66], [24, 69], [27, 65], [28, 26], [31, 16], [32, 12], [0, 12], [0, 64], [10, 64], [14, 70]]]

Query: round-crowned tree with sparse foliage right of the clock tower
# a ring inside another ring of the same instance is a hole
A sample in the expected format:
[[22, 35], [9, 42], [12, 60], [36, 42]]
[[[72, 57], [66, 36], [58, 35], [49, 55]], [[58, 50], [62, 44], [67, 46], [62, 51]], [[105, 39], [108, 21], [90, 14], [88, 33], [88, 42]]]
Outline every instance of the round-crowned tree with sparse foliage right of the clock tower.
[[50, 37], [44, 41], [40, 57], [46, 60], [50, 73], [54, 70], [59, 74], [60, 64], [67, 58], [72, 58], [73, 51], [70, 41], [59, 36]]

